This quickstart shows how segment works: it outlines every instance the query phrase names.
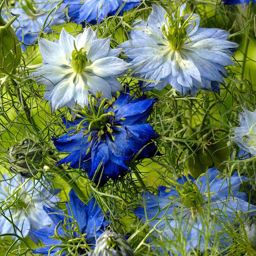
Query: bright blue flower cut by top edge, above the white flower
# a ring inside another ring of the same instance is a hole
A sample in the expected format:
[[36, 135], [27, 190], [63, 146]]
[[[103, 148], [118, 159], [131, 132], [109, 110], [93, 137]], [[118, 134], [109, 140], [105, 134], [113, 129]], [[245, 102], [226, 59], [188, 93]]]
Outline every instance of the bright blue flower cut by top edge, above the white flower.
[[122, 11], [129, 11], [138, 6], [141, 0], [64, 0], [64, 3], [69, 4], [68, 16], [77, 24], [97, 23], [101, 22], [108, 15], [115, 15], [120, 7]]

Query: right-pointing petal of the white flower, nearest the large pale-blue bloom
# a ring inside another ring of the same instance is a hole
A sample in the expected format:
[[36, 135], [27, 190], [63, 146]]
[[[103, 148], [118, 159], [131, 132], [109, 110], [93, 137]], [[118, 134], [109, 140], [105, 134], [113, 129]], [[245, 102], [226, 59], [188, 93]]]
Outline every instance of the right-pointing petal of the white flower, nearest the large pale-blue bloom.
[[105, 57], [94, 61], [93, 64], [85, 67], [85, 70], [92, 70], [97, 76], [102, 77], [120, 76], [129, 68], [129, 66], [130, 64], [122, 59]]

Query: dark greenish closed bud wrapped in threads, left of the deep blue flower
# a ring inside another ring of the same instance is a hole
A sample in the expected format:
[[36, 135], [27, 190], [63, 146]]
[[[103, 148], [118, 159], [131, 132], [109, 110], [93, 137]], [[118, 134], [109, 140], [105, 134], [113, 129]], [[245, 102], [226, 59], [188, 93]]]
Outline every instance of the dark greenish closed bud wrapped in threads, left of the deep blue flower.
[[11, 172], [26, 178], [33, 177], [38, 171], [29, 161], [41, 164], [43, 162], [42, 149], [39, 144], [26, 139], [22, 143], [8, 148], [7, 160], [11, 164], [9, 167]]

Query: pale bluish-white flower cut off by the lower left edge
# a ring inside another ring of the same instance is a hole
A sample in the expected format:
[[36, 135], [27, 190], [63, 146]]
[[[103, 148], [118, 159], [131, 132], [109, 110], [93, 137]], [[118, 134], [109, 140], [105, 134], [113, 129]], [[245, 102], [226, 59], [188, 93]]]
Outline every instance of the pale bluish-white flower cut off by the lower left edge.
[[[46, 228], [52, 224], [43, 210], [43, 202], [54, 207], [60, 198], [53, 195], [52, 189], [48, 188], [46, 183], [42, 186], [40, 182], [36, 182], [32, 179], [3, 175], [0, 181], [0, 234], [15, 232], [19, 236], [29, 236], [37, 243], [38, 238], [30, 230]], [[55, 193], [58, 192], [59, 190], [55, 189]]]

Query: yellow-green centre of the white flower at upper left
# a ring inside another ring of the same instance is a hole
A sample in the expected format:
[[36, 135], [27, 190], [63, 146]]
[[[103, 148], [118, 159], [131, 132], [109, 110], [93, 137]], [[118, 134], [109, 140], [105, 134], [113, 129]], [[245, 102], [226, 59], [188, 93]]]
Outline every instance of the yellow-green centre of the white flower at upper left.
[[[76, 49], [76, 45], [74, 43], [75, 49], [72, 51], [72, 61], [71, 67], [73, 68], [74, 72], [81, 73], [88, 63], [87, 55], [85, 49], [82, 47], [79, 51]], [[89, 60], [90, 64], [90, 60]]]

